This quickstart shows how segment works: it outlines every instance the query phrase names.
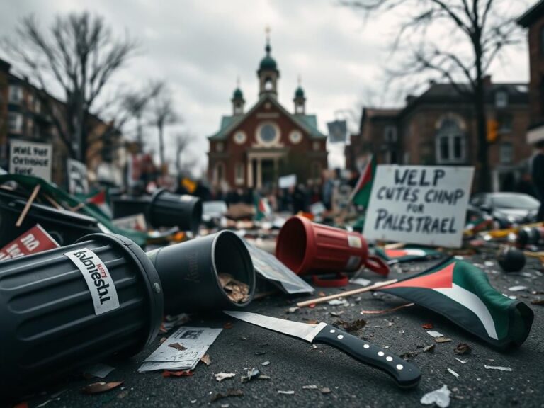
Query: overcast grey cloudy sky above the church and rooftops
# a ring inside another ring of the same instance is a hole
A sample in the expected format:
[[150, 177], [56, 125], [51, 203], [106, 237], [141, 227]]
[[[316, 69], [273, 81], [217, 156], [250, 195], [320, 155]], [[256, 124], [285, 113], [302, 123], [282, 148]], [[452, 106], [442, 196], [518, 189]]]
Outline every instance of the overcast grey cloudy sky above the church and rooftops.
[[[183, 129], [197, 137], [191, 154], [202, 157], [202, 168], [206, 136], [217, 130], [221, 115], [231, 112], [237, 77], [246, 106], [256, 102], [266, 26], [280, 69], [280, 102], [293, 109], [300, 75], [307, 111], [318, 115], [322, 132], [335, 116], [346, 115], [341, 111], [356, 112], [369, 99], [402, 104], [402, 99], [382, 95], [382, 72], [390, 62], [388, 45], [396, 23], [406, 11], [365, 21], [336, 0], [18, 0], [0, 3], [0, 36], [11, 35], [18, 18], [28, 13], [47, 26], [57, 13], [83, 10], [104, 16], [116, 33], [126, 30], [140, 40], [140, 56], [116, 81], [140, 86], [159, 78], [171, 84]], [[494, 81], [527, 81], [526, 47], [511, 50], [491, 74]], [[149, 130], [147, 137], [153, 146], [156, 133]], [[341, 164], [338, 151], [331, 154], [332, 165]]]

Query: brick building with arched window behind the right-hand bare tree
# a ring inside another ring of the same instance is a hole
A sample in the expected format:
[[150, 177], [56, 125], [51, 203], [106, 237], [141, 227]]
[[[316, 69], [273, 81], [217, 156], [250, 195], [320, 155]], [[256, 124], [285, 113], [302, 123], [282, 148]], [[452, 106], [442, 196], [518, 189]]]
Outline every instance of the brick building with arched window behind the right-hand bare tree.
[[[356, 168], [372, 153], [383, 164], [464, 165], [477, 171], [476, 115], [470, 97], [458, 91], [464, 86], [431, 82], [421, 95], [408, 96], [404, 108], [363, 108], [346, 162]], [[492, 188], [510, 190], [531, 156], [525, 138], [528, 86], [493, 84], [487, 77], [485, 97], [488, 123], [497, 127], [489, 144]]]

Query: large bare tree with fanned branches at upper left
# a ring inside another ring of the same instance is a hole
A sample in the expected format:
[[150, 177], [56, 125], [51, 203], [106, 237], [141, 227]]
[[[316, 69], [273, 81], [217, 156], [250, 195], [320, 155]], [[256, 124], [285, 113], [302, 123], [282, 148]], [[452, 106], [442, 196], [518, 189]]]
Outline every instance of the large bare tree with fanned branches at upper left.
[[44, 107], [69, 155], [86, 162], [90, 112], [113, 75], [134, 54], [136, 42], [128, 36], [114, 38], [102, 17], [84, 12], [57, 16], [47, 29], [35, 16], [23, 18], [5, 44], [47, 94], [57, 90], [63, 94], [63, 105]]

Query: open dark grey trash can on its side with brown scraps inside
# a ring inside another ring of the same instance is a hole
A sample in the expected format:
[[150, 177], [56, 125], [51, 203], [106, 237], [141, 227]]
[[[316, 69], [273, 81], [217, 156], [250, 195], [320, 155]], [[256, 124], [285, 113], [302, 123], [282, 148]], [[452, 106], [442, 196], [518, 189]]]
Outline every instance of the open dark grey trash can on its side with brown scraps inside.
[[[249, 305], [255, 271], [246, 245], [231, 231], [217, 232], [147, 253], [164, 288], [164, 312], [212, 312]], [[245, 300], [234, 302], [220, 283], [228, 274], [249, 286]]]

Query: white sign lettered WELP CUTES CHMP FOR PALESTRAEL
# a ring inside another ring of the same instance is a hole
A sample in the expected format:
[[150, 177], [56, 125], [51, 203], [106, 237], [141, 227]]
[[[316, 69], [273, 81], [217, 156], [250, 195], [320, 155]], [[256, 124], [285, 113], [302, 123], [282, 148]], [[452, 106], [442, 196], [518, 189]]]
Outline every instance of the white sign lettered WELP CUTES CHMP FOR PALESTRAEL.
[[378, 166], [367, 239], [461, 246], [473, 167]]

